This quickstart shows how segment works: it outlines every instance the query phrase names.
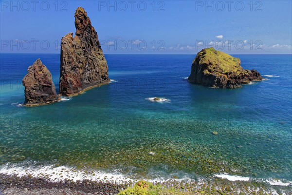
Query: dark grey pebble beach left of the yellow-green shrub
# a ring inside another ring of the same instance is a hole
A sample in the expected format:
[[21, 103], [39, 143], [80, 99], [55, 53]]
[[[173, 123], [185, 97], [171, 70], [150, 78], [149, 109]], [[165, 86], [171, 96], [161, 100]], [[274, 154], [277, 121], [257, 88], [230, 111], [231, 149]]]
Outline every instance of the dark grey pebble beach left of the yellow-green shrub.
[[32, 176], [0, 174], [0, 195], [113, 195], [128, 185], [91, 180], [56, 182]]

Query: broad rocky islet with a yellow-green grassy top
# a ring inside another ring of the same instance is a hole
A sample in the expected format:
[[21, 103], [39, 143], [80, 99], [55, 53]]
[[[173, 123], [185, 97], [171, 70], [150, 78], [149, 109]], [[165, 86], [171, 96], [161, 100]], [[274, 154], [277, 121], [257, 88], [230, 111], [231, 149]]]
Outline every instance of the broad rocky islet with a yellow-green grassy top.
[[208, 87], [238, 88], [263, 78], [256, 70], [244, 70], [241, 61], [213, 47], [201, 50], [192, 64], [190, 82]]

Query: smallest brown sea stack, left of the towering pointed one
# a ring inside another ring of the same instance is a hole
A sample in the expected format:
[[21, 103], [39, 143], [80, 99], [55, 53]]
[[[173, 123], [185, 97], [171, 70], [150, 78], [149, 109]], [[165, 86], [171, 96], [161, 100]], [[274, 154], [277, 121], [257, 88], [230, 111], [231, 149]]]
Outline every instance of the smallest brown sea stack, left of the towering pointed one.
[[37, 106], [58, 101], [52, 75], [40, 59], [28, 67], [27, 75], [23, 78], [26, 106]]

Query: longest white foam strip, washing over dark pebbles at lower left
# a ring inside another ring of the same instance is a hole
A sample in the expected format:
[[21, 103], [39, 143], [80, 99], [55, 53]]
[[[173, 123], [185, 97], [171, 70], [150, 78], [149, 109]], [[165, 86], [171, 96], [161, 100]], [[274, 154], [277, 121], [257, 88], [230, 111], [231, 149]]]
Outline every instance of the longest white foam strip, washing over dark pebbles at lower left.
[[118, 171], [113, 171], [112, 173], [105, 173], [102, 171], [89, 171], [84, 170], [80, 171], [74, 168], [70, 168], [67, 166], [9, 166], [5, 165], [0, 167], [1, 174], [7, 175], [18, 175], [18, 176], [33, 176], [33, 177], [42, 177], [46, 179], [50, 179], [52, 181], [63, 181], [65, 179], [68, 180], [95, 180], [95, 181], [103, 181], [106, 180], [113, 183], [122, 183], [123, 181], [130, 181], [131, 179], [126, 178]]

